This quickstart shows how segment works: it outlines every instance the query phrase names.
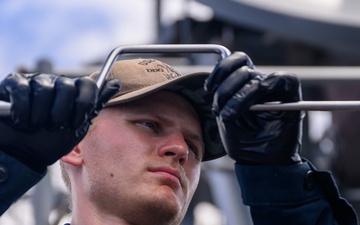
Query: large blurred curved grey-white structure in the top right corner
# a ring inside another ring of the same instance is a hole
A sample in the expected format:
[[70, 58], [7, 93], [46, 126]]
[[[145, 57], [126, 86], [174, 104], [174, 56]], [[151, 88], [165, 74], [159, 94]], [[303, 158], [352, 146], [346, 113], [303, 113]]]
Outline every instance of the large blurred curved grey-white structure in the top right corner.
[[360, 56], [358, 0], [196, 0], [224, 22]]

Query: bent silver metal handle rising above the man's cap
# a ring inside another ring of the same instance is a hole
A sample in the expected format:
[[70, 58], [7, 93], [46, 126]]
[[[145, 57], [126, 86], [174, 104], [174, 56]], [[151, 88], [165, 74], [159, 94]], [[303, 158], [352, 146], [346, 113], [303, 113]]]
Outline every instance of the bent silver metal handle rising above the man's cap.
[[[153, 44], [153, 45], [128, 45], [113, 49], [107, 57], [96, 85], [101, 89], [109, 76], [115, 60], [122, 54], [127, 53], [216, 53], [221, 59], [228, 57], [231, 52], [222, 45], [214, 44]], [[0, 116], [10, 115], [11, 103], [0, 101]]]

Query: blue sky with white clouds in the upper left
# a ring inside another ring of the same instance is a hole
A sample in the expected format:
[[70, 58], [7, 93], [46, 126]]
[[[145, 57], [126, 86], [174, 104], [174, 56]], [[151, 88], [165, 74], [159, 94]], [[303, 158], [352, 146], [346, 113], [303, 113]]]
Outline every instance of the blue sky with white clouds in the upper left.
[[42, 58], [78, 68], [120, 45], [155, 39], [152, 0], [1, 0], [0, 77]]

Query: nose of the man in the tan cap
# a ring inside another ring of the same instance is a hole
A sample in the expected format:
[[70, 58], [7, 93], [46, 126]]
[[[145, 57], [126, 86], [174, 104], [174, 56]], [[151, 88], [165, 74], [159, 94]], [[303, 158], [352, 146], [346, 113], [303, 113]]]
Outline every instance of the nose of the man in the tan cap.
[[184, 164], [189, 157], [189, 148], [183, 134], [173, 132], [166, 135], [160, 144], [158, 154], [161, 157], [171, 157], [180, 164]]

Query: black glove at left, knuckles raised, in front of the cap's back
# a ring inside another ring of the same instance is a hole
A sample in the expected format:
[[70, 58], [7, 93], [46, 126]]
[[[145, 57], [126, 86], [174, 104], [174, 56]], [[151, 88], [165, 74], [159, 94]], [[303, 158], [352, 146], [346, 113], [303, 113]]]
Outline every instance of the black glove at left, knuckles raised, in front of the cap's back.
[[118, 80], [109, 80], [98, 93], [89, 77], [8, 75], [0, 84], [0, 100], [11, 101], [11, 115], [0, 117], [0, 151], [45, 171], [83, 139], [119, 87]]

